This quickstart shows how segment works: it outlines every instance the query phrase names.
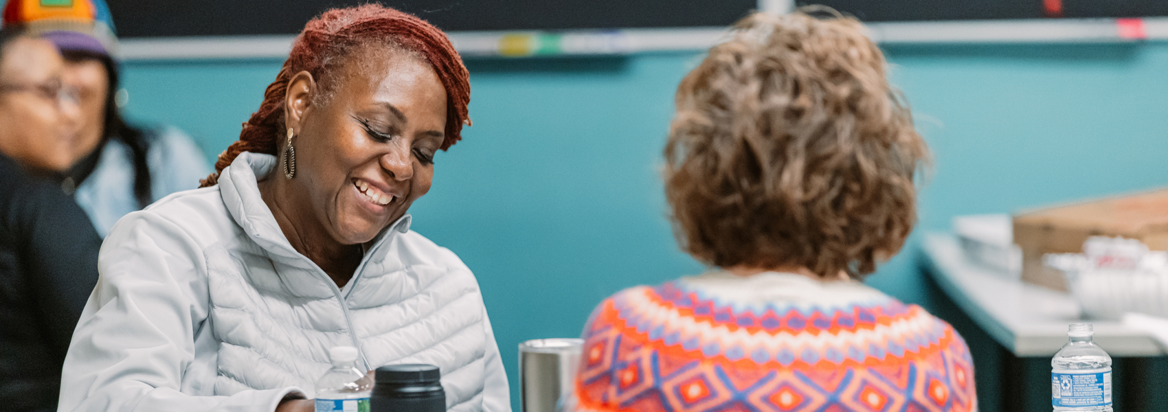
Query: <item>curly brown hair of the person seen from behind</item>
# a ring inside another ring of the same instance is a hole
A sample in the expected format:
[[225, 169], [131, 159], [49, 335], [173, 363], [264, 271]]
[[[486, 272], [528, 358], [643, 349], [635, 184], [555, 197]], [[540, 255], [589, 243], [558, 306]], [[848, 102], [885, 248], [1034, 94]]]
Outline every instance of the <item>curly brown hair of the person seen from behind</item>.
[[916, 223], [929, 149], [860, 21], [750, 15], [677, 86], [666, 196], [719, 267], [862, 279]]

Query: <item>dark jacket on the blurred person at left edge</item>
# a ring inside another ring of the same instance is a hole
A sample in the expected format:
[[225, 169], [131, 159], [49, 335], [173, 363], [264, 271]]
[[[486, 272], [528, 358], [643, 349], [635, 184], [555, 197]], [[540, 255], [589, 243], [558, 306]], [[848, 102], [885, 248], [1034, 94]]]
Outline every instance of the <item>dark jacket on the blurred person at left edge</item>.
[[60, 186], [0, 155], [0, 410], [56, 411], [100, 246]]

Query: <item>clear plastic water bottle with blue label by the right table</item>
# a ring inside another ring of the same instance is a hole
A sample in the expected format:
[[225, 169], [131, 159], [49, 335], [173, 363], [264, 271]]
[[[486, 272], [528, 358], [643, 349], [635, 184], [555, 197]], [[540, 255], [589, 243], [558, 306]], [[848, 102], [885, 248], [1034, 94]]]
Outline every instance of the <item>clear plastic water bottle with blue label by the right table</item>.
[[1111, 356], [1091, 341], [1091, 323], [1071, 324], [1070, 342], [1050, 359], [1050, 403], [1055, 411], [1111, 408]]

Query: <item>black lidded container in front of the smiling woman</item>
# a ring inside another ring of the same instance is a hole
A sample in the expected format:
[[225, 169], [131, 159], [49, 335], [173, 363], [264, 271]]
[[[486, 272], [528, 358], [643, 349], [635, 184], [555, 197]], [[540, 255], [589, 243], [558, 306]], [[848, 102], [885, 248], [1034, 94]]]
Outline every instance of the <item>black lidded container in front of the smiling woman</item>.
[[369, 401], [373, 412], [444, 412], [446, 391], [442, 389], [442, 372], [427, 364], [377, 368]]

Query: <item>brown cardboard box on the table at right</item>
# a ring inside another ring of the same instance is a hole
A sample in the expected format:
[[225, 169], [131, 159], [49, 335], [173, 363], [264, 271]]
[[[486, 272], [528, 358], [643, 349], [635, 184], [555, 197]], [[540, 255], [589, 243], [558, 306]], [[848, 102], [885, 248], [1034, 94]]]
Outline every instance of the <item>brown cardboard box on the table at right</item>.
[[1022, 280], [1066, 292], [1063, 273], [1042, 264], [1045, 253], [1078, 253], [1092, 236], [1139, 239], [1168, 250], [1168, 189], [1078, 202], [1014, 215], [1022, 249]]

